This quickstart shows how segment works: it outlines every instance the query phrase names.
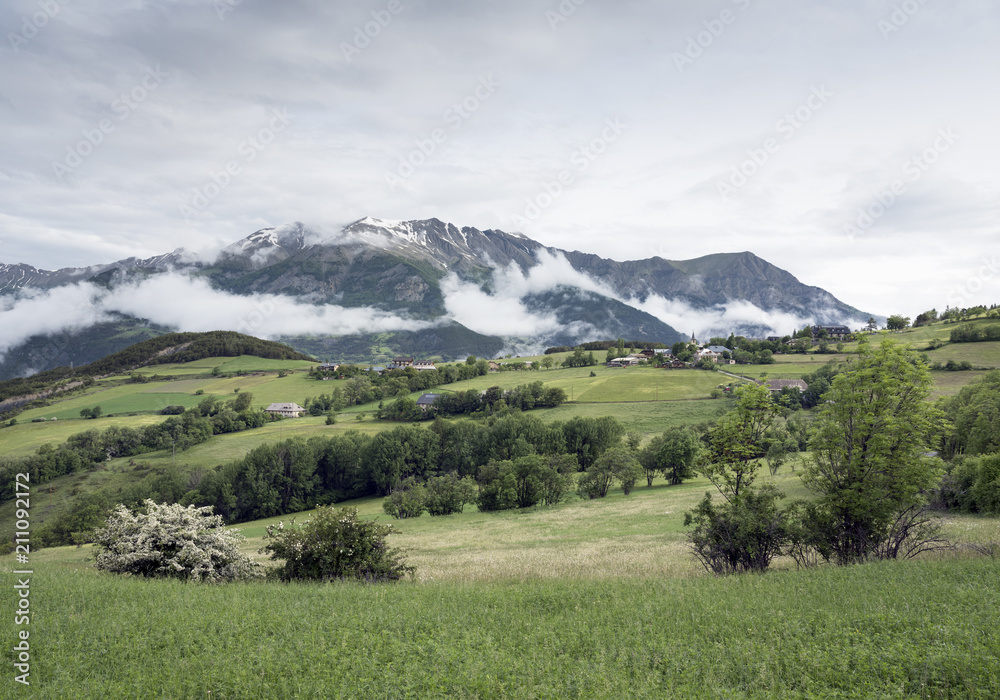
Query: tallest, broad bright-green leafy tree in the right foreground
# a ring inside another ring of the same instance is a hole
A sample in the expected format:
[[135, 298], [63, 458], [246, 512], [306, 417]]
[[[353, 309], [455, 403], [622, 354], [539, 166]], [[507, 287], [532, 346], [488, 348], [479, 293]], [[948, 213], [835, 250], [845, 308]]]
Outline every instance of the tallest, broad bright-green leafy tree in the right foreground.
[[824, 395], [802, 477], [813, 546], [840, 564], [911, 557], [943, 544], [925, 494], [941, 476], [926, 457], [943, 416], [927, 402], [930, 372], [886, 339], [864, 345]]

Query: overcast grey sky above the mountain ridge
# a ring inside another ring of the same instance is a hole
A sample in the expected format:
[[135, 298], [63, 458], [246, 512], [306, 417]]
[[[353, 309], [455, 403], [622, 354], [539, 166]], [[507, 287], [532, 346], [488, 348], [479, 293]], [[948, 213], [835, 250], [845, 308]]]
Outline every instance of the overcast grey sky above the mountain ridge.
[[0, 262], [437, 217], [1000, 301], [995, 0], [6, 0]]

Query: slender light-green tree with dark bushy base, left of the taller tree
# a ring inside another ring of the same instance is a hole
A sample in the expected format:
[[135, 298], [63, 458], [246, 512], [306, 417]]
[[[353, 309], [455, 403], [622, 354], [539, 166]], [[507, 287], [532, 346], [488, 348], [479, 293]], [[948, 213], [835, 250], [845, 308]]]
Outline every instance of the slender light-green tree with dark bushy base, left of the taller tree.
[[787, 540], [788, 519], [778, 508], [784, 498], [773, 485], [755, 487], [768, 441], [766, 433], [780, 410], [767, 388], [757, 384], [737, 389], [736, 407], [709, 432], [708, 453], [699, 471], [724, 501], [706, 493], [685, 513], [684, 524], [694, 555], [715, 574], [764, 571]]

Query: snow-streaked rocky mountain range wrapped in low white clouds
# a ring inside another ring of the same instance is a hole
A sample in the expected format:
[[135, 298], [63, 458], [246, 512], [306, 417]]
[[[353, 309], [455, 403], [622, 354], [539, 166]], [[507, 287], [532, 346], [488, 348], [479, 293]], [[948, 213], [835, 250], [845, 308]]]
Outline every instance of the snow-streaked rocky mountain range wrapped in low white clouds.
[[0, 334], [0, 378], [92, 361], [171, 329], [238, 330], [367, 362], [785, 334], [871, 315], [750, 252], [622, 262], [517, 233], [372, 217], [264, 228], [210, 261], [176, 250], [54, 271], [0, 263], [0, 311], [20, 321]]

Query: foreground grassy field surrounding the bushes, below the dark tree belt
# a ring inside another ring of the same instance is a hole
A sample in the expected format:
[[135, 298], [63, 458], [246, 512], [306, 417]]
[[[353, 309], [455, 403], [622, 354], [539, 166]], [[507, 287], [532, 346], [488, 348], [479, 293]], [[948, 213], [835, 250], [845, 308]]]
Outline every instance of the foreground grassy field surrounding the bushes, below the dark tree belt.
[[[1000, 560], [709, 577], [682, 525], [705, 488], [403, 521], [390, 541], [418, 570], [392, 585], [144, 581], [44, 550], [32, 687], [5, 697], [1000, 697]], [[243, 528], [248, 551], [266, 523]], [[1000, 539], [995, 518], [947, 527]]]

